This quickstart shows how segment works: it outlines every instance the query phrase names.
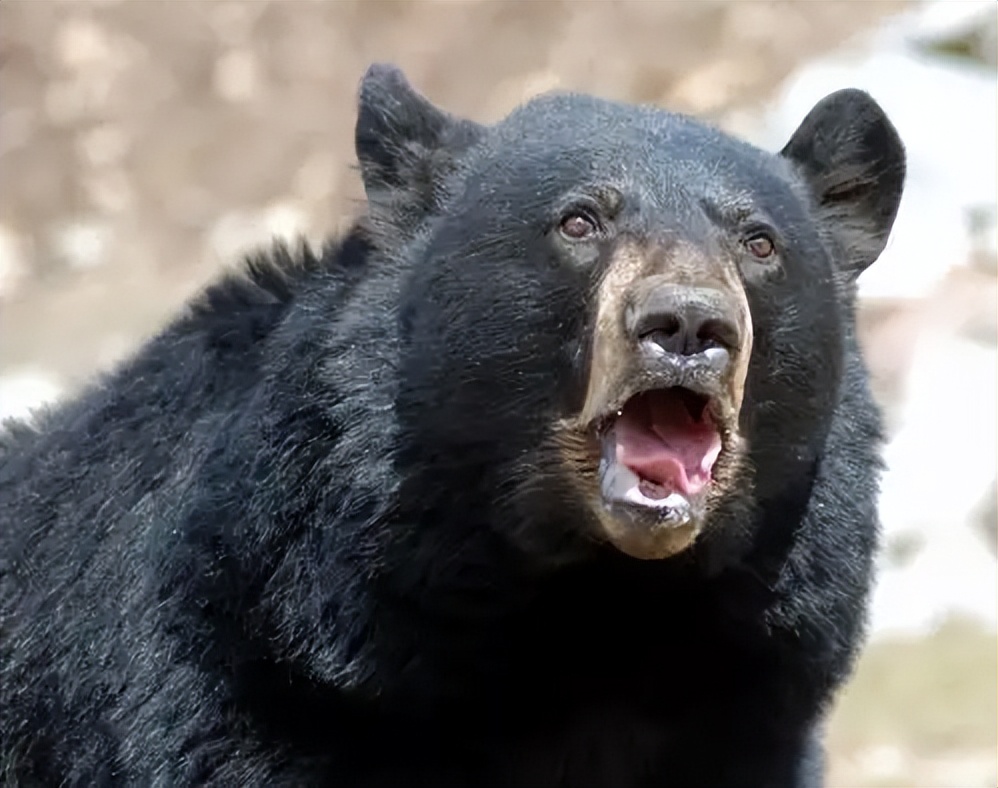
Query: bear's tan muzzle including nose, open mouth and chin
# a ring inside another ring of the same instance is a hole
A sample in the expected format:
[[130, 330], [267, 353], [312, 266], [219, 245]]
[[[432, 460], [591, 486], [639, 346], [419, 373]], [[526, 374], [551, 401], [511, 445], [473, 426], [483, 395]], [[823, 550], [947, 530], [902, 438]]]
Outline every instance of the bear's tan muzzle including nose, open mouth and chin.
[[685, 549], [720, 494], [717, 471], [740, 445], [748, 351], [732, 314], [712, 289], [649, 291], [625, 310], [614, 363], [590, 387], [596, 398], [585, 413], [599, 446], [599, 519], [604, 536], [629, 555], [663, 558]]

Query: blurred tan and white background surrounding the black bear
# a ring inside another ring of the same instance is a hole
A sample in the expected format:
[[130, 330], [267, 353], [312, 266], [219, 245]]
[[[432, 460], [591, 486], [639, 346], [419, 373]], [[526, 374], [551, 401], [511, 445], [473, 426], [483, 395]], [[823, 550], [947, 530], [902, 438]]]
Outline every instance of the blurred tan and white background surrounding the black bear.
[[886, 539], [829, 785], [993, 788], [996, 19], [993, 0], [3, 0], [0, 416], [72, 392], [242, 252], [349, 223], [371, 61], [480, 121], [579, 89], [770, 149], [865, 88], [909, 180], [862, 279]]

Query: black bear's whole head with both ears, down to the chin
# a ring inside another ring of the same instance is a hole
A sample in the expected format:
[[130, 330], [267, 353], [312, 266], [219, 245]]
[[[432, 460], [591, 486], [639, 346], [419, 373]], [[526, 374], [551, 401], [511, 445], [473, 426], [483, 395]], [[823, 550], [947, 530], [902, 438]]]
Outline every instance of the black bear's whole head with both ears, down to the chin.
[[869, 96], [826, 98], [769, 154], [579, 95], [483, 127], [374, 67], [357, 137], [406, 267], [403, 476], [459, 480], [452, 505], [564, 562], [723, 542], [813, 465], [904, 178]]

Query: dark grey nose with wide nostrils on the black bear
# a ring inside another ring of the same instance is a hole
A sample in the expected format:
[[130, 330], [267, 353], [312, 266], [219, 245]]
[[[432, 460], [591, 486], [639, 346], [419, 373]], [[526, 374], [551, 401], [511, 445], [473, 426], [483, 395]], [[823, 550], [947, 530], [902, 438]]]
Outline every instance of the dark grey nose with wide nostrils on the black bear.
[[732, 312], [720, 290], [660, 285], [628, 310], [627, 329], [634, 340], [676, 355], [734, 351], [741, 337]]

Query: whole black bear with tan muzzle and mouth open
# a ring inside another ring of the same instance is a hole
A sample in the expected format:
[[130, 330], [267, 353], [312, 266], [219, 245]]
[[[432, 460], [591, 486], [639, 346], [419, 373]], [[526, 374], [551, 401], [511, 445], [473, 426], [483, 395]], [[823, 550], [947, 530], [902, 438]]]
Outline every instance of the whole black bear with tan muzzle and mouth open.
[[904, 151], [374, 66], [368, 202], [0, 437], [8, 785], [816, 786]]

